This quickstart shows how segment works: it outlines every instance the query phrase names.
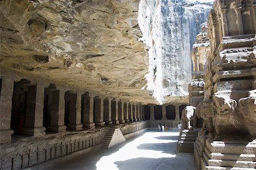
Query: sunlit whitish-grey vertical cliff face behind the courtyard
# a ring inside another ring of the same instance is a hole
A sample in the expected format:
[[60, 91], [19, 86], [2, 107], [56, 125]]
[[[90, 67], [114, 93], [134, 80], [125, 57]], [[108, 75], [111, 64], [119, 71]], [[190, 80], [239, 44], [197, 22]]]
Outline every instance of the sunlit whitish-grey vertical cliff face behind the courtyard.
[[211, 7], [203, 1], [140, 2], [141, 40], [150, 47], [146, 88], [160, 103], [187, 101], [191, 48]]

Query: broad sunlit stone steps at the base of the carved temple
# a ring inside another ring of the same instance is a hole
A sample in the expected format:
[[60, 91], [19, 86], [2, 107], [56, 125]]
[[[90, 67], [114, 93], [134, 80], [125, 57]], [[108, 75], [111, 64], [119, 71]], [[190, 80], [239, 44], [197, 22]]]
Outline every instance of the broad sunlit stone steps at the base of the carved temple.
[[[205, 138], [203, 143], [195, 143], [194, 156], [199, 155], [200, 169], [255, 169], [256, 141], [242, 140], [212, 141]], [[196, 158], [196, 157], [195, 157]]]

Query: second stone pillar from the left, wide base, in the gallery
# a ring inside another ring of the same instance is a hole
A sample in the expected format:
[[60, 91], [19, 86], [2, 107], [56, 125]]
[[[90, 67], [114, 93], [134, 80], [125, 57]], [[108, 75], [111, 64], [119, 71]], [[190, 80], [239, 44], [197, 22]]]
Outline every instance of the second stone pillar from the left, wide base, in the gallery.
[[26, 120], [22, 133], [34, 136], [46, 134], [43, 127], [44, 86], [27, 86]]

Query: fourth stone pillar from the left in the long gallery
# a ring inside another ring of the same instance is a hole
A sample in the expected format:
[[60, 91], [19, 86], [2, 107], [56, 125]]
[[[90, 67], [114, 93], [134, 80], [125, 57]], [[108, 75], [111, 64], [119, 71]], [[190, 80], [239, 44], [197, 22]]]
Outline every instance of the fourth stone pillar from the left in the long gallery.
[[80, 92], [77, 92], [76, 94], [73, 94], [73, 105], [70, 108], [70, 114], [69, 115], [69, 123], [68, 128], [72, 130], [82, 130], [82, 124], [81, 124], [81, 99], [82, 94]]

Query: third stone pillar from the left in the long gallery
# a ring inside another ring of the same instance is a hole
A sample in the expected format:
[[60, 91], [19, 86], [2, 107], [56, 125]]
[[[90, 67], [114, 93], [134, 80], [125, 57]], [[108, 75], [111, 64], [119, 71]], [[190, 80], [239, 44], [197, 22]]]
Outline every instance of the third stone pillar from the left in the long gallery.
[[64, 132], [65, 92], [63, 90], [51, 89], [49, 92], [49, 111], [51, 115], [49, 131]]

